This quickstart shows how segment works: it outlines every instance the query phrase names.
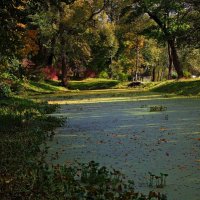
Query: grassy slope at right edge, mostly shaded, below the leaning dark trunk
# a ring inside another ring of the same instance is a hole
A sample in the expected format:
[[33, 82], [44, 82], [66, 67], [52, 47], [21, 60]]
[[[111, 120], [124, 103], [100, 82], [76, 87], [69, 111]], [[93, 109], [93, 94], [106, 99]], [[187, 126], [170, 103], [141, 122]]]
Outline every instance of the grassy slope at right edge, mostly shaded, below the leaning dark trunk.
[[200, 79], [166, 81], [150, 88], [153, 92], [200, 96]]

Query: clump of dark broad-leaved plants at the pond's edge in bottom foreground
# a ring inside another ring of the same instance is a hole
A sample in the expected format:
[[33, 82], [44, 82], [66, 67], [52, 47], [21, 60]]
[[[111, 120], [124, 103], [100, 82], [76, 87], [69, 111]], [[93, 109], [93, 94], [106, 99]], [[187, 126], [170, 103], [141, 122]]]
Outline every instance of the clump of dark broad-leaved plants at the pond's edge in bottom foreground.
[[[94, 161], [88, 164], [77, 164], [73, 167], [53, 166], [53, 169], [41, 170], [37, 177], [37, 187], [40, 191], [38, 198], [45, 197], [58, 199], [118, 199], [126, 196], [137, 199], [137, 193], [132, 183], [125, 184], [122, 174], [118, 171], [109, 171], [106, 167], [100, 167]], [[45, 184], [44, 182], [45, 181]]]

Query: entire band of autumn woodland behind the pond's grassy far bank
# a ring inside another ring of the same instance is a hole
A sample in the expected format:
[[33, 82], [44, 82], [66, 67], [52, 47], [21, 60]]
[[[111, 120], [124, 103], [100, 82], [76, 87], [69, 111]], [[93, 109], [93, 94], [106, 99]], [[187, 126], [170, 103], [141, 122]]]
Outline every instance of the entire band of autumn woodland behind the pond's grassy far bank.
[[49, 78], [46, 71], [63, 86], [200, 75], [198, 0], [2, 0], [0, 13], [1, 82], [9, 86]]

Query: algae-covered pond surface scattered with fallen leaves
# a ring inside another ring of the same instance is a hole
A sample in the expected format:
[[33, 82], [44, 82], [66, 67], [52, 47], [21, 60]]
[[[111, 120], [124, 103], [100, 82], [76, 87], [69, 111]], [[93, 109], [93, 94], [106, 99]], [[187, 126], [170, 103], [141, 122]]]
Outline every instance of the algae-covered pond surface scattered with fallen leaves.
[[[94, 160], [121, 170], [142, 192], [150, 190], [148, 172], [167, 173], [161, 192], [169, 200], [199, 200], [200, 99], [97, 91], [50, 103], [61, 104], [54, 116], [67, 118], [49, 144], [55, 162]], [[150, 112], [160, 105], [167, 110]]]

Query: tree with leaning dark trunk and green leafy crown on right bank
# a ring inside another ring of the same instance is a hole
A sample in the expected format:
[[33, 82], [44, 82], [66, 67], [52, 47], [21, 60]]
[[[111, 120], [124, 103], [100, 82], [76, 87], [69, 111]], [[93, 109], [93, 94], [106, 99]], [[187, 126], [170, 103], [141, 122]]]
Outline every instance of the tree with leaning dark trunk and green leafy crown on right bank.
[[190, 28], [185, 20], [191, 13], [190, 4], [183, 0], [136, 0], [124, 9], [124, 13], [126, 15], [128, 13], [129, 20], [134, 20], [135, 17], [145, 13], [149, 15], [167, 41], [178, 78], [182, 78], [183, 69], [178, 57], [177, 42], [179, 37], [186, 35]]

